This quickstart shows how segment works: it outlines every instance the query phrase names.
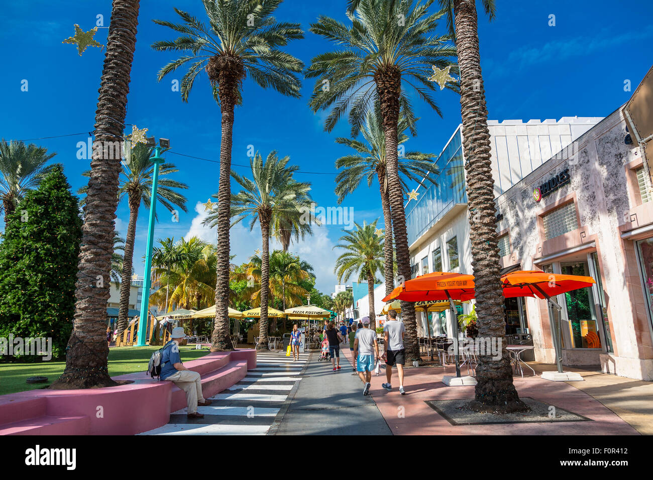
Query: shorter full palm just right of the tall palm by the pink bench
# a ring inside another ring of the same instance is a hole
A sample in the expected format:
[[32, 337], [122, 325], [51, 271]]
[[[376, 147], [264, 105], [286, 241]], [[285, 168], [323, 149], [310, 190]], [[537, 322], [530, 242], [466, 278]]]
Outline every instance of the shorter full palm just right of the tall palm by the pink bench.
[[[261, 252], [261, 319], [259, 328], [261, 341], [259, 347], [264, 349], [267, 344], [268, 330], [268, 295], [270, 281], [270, 225], [274, 224], [276, 217], [294, 215], [302, 211], [307, 202], [310, 202], [308, 191], [310, 184], [296, 182], [293, 173], [298, 169], [296, 165], [288, 166], [290, 157], [279, 159], [276, 151], [268, 154], [263, 161], [261, 153], [256, 152], [249, 161], [253, 180], [242, 177], [232, 170], [231, 176], [240, 184], [242, 190], [231, 196], [231, 216], [236, 217], [232, 225], [240, 223], [251, 216], [249, 229], [253, 229], [258, 221], [261, 225], [261, 239], [263, 251]], [[218, 193], [219, 195], [219, 193]], [[221, 212], [209, 214], [204, 225], [211, 227], [219, 221]], [[217, 307], [216, 307], [217, 308]]]

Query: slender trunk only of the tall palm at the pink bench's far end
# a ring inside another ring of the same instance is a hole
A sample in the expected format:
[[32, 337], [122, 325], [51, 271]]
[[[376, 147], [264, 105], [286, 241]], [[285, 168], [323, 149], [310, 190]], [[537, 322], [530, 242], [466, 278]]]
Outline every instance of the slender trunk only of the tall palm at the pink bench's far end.
[[[229, 335], [229, 221], [231, 219], [231, 142], [235, 103], [234, 99], [229, 95], [229, 86], [221, 85], [220, 87], [222, 138], [220, 144], [220, 180], [217, 192], [215, 323], [211, 351], [234, 349]], [[223, 91], [225, 92], [224, 95]]]

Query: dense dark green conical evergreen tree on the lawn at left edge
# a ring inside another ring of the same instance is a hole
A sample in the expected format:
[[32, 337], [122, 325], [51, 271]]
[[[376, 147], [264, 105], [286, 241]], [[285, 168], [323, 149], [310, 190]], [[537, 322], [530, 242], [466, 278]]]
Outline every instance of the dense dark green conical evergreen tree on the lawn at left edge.
[[65, 355], [81, 238], [78, 199], [56, 165], [10, 214], [0, 244], [0, 336], [51, 337], [52, 356]]

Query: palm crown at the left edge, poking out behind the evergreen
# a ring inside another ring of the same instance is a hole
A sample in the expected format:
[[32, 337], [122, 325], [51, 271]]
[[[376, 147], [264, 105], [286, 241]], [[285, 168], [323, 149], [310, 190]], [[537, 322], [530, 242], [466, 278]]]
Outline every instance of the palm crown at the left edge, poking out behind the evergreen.
[[9, 215], [28, 190], [39, 187], [40, 181], [50, 172], [53, 165], [47, 161], [56, 153], [24, 142], [0, 140], [0, 198], [5, 212], [5, 225]]

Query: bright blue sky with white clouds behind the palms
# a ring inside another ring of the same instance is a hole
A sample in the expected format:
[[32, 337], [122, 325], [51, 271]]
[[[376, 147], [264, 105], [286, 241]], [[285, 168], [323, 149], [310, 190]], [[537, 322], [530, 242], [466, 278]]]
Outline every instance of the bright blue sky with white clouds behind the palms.
[[[631, 1], [623, 6], [605, 0], [549, 0], [524, 2], [498, 0], [498, 18], [491, 24], [479, 18], [481, 65], [488, 101], [489, 118], [559, 119], [563, 116], [606, 116], [624, 103], [631, 92], [624, 91], [624, 81], [632, 89], [651, 65], [650, 44], [653, 25], [639, 20], [652, 18], [653, 3]], [[172, 31], [153, 24], [152, 19], [176, 21], [176, 6], [202, 17], [199, 0], [142, 0], [140, 7], [136, 53], [127, 105], [126, 123], [148, 128], [149, 135], [170, 138], [173, 152], [217, 159], [220, 142], [220, 112], [212, 99], [206, 76], [197, 80], [188, 103], [183, 103], [171, 82], [182, 73], [172, 74], [161, 83], [156, 73], [174, 56], [154, 52], [150, 45], [161, 39], [172, 39]], [[286, 0], [276, 18], [299, 22], [307, 31], [304, 40], [292, 42], [287, 51], [308, 65], [311, 57], [333, 46], [308, 32], [317, 16], [327, 15], [346, 21], [345, 0]], [[0, 76], [3, 91], [3, 115], [0, 136], [24, 140], [67, 135], [93, 130], [97, 89], [102, 71], [104, 50], [89, 47], [78, 56], [76, 46], [62, 40], [74, 34], [74, 24], [89, 30], [96, 25], [97, 15], [104, 16], [108, 26], [111, 2], [31, 0], [3, 5], [0, 18], [0, 54], [5, 67]], [[550, 15], [555, 26], [549, 26]], [[445, 33], [442, 22], [440, 33]], [[99, 29], [95, 39], [106, 43], [107, 29]], [[27, 91], [22, 91], [27, 80]], [[325, 114], [313, 114], [308, 97], [313, 82], [303, 83], [300, 99], [282, 97], [272, 90], [263, 90], [247, 80], [244, 104], [236, 108], [232, 162], [246, 165], [247, 146], [253, 145], [266, 155], [278, 150], [290, 155], [291, 163], [307, 172], [297, 174], [300, 180], [313, 183], [312, 195], [317, 204], [336, 206], [333, 193], [336, 158], [349, 153], [334, 143], [337, 136], [347, 136], [345, 120], [332, 133], [323, 131]], [[416, 102], [418, 136], [407, 144], [410, 150], [439, 153], [446, 140], [460, 123], [460, 103], [450, 91], [436, 94], [443, 112], [439, 118], [426, 105]], [[127, 127], [131, 131], [131, 127]], [[89, 161], [77, 159], [77, 143], [87, 134], [33, 140], [50, 152], [57, 152], [56, 161], [63, 163], [74, 191], [86, 184], [80, 176]], [[215, 232], [201, 227], [204, 207], [199, 202], [217, 191], [219, 165], [168, 153], [167, 160], [180, 172], [175, 178], [190, 186], [186, 192], [188, 214], [180, 213], [178, 223], [162, 210], [155, 238], [181, 238], [198, 234], [215, 241]], [[246, 168], [234, 167], [240, 173]], [[236, 185], [232, 185], [234, 188]], [[353, 208], [354, 220], [374, 221], [383, 215], [375, 185], [359, 187], [343, 206]], [[163, 207], [159, 207], [163, 208]], [[117, 226], [124, 234], [129, 217], [127, 203], [118, 208]], [[148, 212], [140, 210], [136, 230], [135, 269], [142, 274]], [[324, 293], [334, 289], [333, 246], [342, 234], [342, 225], [325, 225], [316, 229], [313, 238], [291, 246], [310, 261], [317, 274], [317, 287]], [[249, 232], [246, 225], [232, 229], [232, 253], [242, 262], [261, 245], [260, 230]], [[274, 244], [273, 244], [274, 245]], [[356, 280], [356, 279], [353, 279]]]

